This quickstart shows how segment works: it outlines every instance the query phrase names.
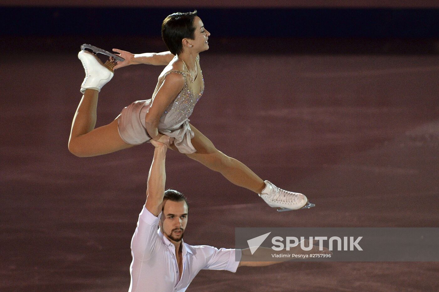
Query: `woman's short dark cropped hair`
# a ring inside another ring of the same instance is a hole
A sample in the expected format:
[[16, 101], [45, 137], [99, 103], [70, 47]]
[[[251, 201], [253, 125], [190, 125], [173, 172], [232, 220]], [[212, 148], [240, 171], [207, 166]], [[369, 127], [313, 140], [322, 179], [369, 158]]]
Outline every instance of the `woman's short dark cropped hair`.
[[185, 38], [194, 39], [194, 12], [176, 12], [168, 15], [162, 23], [162, 39], [168, 50], [174, 55], [183, 51], [181, 41]]

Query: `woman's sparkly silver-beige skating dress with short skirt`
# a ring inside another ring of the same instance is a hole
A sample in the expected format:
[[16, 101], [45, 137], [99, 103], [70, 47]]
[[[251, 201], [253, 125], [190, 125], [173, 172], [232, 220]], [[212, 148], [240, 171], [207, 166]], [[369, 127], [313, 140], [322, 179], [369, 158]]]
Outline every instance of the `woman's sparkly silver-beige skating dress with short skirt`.
[[148, 113], [149, 107], [151, 106], [158, 89], [165, 81], [166, 76], [171, 73], [177, 73], [183, 75], [184, 86], [160, 117], [158, 122], [158, 132], [173, 137], [174, 145], [181, 153], [194, 153], [196, 151], [191, 143], [191, 138], [194, 137], [194, 132], [191, 130], [188, 118], [191, 116], [195, 104], [201, 98], [204, 91], [204, 78], [199, 64], [197, 65], [199, 73], [195, 80], [202, 78], [200, 93], [195, 94], [191, 90], [184, 72], [169, 70], [159, 78], [151, 99], [137, 100], [122, 110], [120, 118], [118, 119], [119, 134], [125, 142], [138, 145], [149, 141], [150, 138], [145, 126], [146, 114]]

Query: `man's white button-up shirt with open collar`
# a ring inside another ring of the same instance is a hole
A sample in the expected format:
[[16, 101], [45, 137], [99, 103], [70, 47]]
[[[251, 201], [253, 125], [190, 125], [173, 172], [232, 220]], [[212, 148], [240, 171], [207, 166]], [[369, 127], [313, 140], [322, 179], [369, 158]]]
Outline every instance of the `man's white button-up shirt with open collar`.
[[240, 249], [190, 246], [182, 240], [183, 273], [179, 280], [175, 246], [158, 229], [160, 216], [161, 213], [155, 217], [145, 206], [140, 212], [131, 240], [129, 292], [183, 292], [201, 270], [236, 272]]

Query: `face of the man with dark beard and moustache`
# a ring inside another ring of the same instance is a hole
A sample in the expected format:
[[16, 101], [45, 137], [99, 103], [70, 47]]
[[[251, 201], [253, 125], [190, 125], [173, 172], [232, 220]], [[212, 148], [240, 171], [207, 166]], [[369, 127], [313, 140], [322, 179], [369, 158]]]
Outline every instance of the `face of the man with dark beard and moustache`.
[[166, 200], [164, 204], [159, 224], [160, 229], [170, 241], [179, 242], [183, 238], [187, 224], [186, 202]]

